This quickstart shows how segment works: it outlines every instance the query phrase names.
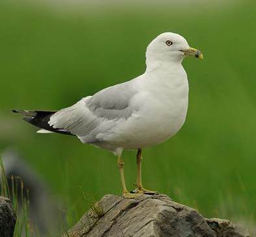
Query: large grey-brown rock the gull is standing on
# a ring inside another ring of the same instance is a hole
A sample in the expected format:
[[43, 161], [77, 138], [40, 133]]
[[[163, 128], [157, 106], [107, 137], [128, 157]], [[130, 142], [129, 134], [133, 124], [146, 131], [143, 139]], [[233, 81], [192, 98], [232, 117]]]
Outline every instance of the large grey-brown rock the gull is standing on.
[[64, 236], [249, 237], [244, 227], [227, 220], [203, 218], [197, 210], [163, 194], [136, 199], [105, 195], [96, 210], [86, 212]]

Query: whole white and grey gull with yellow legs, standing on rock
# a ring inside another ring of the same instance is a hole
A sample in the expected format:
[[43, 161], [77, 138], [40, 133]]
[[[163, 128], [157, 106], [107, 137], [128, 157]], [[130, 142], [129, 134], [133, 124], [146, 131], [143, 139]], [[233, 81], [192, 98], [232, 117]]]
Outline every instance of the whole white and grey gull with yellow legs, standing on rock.
[[[142, 185], [142, 149], [173, 137], [188, 109], [188, 79], [181, 64], [186, 56], [203, 59], [198, 49], [172, 32], [157, 36], [146, 49], [146, 71], [133, 80], [112, 85], [58, 111], [13, 110], [40, 128], [38, 133], [75, 135], [86, 144], [118, 157], [124, 198], [155, 194]], [[123, 150], [136, 150], [135, 190], [125, 186]]]

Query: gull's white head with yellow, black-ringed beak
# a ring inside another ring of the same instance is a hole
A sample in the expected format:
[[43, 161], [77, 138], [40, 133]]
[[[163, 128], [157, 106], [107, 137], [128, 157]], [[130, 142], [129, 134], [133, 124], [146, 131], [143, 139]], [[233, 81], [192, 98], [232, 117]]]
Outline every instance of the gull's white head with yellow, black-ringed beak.
[[185, 56], [203, 59], [201, 51], [191, 48], [185, 38], [172, 32], [165, 32], [157, 36], [149, 43], [146, 51], [147, 64], [151, 62], [182, 62]]

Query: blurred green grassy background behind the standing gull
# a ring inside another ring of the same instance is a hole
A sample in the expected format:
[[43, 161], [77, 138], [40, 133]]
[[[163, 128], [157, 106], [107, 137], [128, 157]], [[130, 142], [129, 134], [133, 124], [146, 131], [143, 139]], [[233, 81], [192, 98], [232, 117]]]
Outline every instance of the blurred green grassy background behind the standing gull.
[[[194, 2], [194, 1], [193, 1]], [[0, 149], [15, 148], [54, 194], [84, 212], [81, 188], [99, 199], [121, 194], [116, 157], [71, 136], [35, 133], [10, 109], [60, 109], [145, 70], [147, 44], [177, 32], [204, 60], [186, 58], [186, 123], [144, 150], [148, 188], [208, 217], [256, 214], [256, 3], [35, 4], [0, 1]], [[135, 152], [124, 152], [133, 188]]]

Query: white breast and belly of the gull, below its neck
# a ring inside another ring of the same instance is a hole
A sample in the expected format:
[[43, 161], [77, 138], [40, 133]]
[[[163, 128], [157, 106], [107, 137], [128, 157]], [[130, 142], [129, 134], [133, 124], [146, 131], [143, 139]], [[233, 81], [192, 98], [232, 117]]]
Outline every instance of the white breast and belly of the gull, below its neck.
[[118, 145], [143, 148], [175, 135], [185, 122], [188, 107], [188, 80], [183, 67], [174, 73], [146, 74], [134, 81], [134, 86], [140, 93], [132, 101], [133, 116], [116, 129]]

